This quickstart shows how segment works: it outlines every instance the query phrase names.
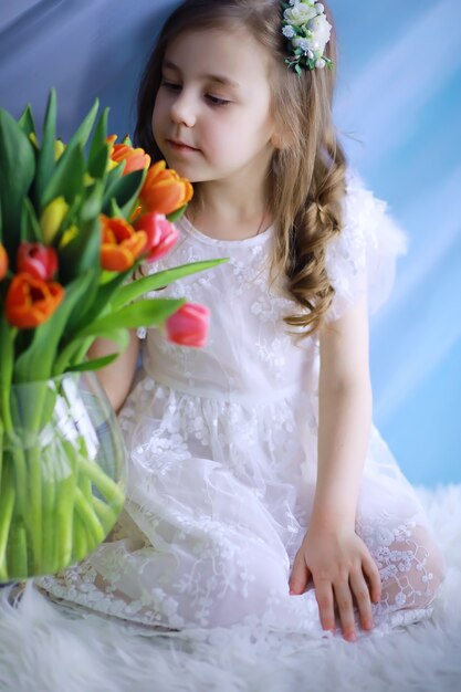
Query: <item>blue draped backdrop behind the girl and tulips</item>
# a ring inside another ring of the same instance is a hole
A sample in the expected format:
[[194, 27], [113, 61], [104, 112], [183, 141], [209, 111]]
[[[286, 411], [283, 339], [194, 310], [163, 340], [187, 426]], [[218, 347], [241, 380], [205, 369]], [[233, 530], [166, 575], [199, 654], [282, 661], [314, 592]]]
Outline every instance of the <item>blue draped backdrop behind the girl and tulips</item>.
[[[132, 132], [139, 72], [170, 0], [0, 0], [0, 105], [64, 139], [95, 95]], [[417, 484], [461, 482], [461, 4], [332, 0], [347, 154], [409, 237], [371, 322], [375, 419]], [[359, 141], [357, 141], [359, 140]]]

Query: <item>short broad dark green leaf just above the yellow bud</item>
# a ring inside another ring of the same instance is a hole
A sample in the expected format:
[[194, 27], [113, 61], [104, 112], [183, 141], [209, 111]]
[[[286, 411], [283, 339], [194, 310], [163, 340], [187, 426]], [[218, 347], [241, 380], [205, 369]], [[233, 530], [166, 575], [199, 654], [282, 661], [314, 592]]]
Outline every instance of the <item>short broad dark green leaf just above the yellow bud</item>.
[[85, 159], [83, 147], [67, 147], [57, 161], [56, 168], [49, 180], [41, 198], [41, 206], [46, 207], [56, 197], [64, 197], [71, 205], [84, 188]]

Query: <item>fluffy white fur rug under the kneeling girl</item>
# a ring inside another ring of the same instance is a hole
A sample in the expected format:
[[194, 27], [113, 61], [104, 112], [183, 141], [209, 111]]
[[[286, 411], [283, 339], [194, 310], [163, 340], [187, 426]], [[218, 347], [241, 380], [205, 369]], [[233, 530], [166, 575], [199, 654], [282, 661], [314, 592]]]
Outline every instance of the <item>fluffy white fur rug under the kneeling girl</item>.
[[[19, 601], [0, 591], [3, 692], [434, 692], [461, 690], [461, 485], [420, 490], [447, 563], [431, 620], [371, 633], [253, 642], [145, 636], [139, 628], [67, 612], [29, 583]], [[284, 642], [285, 643], [285, 642]]]

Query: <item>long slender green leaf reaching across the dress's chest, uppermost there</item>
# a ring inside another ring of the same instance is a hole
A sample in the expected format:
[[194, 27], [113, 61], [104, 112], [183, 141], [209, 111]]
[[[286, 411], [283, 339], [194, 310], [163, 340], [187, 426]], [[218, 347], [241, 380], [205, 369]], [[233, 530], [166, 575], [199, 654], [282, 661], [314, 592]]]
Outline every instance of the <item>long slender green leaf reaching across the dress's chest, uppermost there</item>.
[[180, 266], [174, 266], [172, 269], [167, 269], [163, 272], [144, 276], [143, 279], [138, 279], [132, 283], [121, 286], [114, 294], [111, 304], [114, 310], [118, 310], [123, 305], [135, 301], [140, 295], [149, 293], [149, 291], [164, 289], [178, 279], [190, 276], [191, 274], [197, 274], [198, 272], [203, 272], [208, 269], [212, 269], [213, 266], [218, 266], [219, 264], [224, 264], [224, 262], [228, 261], [229, 259], [224, 258], [219, 260], [206, 260], [203, 262], [191, 262], [190, 264], [181, 264]]

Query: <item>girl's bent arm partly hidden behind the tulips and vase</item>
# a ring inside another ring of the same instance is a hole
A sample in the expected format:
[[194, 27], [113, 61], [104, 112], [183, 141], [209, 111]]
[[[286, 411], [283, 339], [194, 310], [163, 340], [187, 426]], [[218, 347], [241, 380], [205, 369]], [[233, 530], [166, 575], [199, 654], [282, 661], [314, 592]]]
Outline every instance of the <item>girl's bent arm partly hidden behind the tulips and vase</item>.
[[[116, 344], [107, 339], [98, 338], [94, 342], [88, 350], [92, 358], [101, 358], [115, 353]], [[133, 377], [136, 370], [136, 364], [139, 355], [139, 339], [136, 329], [129, 332], [129, 344], [114, 363], [96, 373], [101, 384], [103, 385], [108, 400], [117, 411], [125, 401]]]

